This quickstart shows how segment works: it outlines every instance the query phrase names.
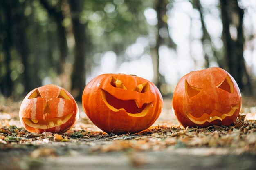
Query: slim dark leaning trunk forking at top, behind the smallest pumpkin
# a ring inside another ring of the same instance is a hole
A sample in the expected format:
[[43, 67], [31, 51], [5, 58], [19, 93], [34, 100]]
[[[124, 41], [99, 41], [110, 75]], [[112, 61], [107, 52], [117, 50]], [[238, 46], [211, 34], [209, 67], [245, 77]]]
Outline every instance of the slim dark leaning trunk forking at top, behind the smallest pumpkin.
[[60, 63], [56, 64], [57, 66], [57, 72], [58, 74], [61, 74], [63, 72], [63, 66], [65, 64], [65, 60], [68, 55], [68, 47], [67, 47], [67, 38], [66, 38], [66, 32], [65, 27], [62, 25], [62, 22], [64, 20], [63, 13], [61, 11], [61, 4], [62, 1], [59, 1], [59, 3], [55, 7], [51, 7], [47, 0], [40, 0], [40, 3], [45, 7], [49, 15], [54, 18], [56, 24], [57, 24], [57, 32], [58, 32], [58, 48], [60, 51]]

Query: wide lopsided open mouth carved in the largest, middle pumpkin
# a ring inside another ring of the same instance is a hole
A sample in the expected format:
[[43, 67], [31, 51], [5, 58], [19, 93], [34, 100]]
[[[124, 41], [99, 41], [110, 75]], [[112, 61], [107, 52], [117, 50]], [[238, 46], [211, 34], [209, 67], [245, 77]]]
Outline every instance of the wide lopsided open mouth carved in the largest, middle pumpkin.
[[135, 100], [120, 100], [108, 93], [107, 91], [101, 90], [101, 96], [104, 103], [111, 110], [117, 112], [119, 110], [125, 110], [126, 113], [133, 117], [145, 116], [148, 112], [151, 103], [144, 103], [141, 108], [139, 108], [137, 102]]

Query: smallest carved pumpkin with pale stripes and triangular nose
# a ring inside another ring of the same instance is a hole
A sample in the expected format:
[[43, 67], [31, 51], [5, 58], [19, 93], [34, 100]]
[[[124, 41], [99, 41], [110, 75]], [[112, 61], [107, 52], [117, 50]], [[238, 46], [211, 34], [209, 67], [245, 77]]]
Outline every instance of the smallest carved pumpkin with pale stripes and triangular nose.
[[63, 133], [79, 118], [78, 106], [72, 95], [54, 84], [35, 88], [20, 106], [20, 121], [32, 133]]

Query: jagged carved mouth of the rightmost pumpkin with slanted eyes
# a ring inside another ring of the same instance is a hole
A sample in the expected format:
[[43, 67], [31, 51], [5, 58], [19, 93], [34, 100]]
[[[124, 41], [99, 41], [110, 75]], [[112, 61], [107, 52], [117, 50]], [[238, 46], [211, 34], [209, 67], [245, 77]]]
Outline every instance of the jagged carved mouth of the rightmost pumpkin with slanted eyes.
[[223, 121], [223, 119], [225, 119], [226, 117], [234, 115], [239, 106], [240, 103], [238, 103], [234, 107], [231, 106], [231, 110], [226, 113], [220, 113], [217, 110], [213, 110], [211, 114], [208, 115], [207, 113], [204, 113], [201, 117], [194, 117], [190, 113], [186, 113], [186, 116], [196, 124], [204, 124], [205, 122], [212, 122], [215, 120]]

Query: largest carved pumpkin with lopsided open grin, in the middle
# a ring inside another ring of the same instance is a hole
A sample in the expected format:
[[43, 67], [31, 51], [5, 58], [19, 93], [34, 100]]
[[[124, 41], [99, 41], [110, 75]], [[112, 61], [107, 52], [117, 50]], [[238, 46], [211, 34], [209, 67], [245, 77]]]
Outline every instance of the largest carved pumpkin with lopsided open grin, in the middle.
[[[115, 87], [113, 79], [122, 82], [120, 88]], [[142, 93], [136, 91], [139, 84], [145, 85], [146, 90]], [[152, 82], [119, 73], [92, 79], [85, 86], [82, 104], [89, 119], [104, 132], [132, 134], [147, 129], [156, 121], [163, 99]]]

